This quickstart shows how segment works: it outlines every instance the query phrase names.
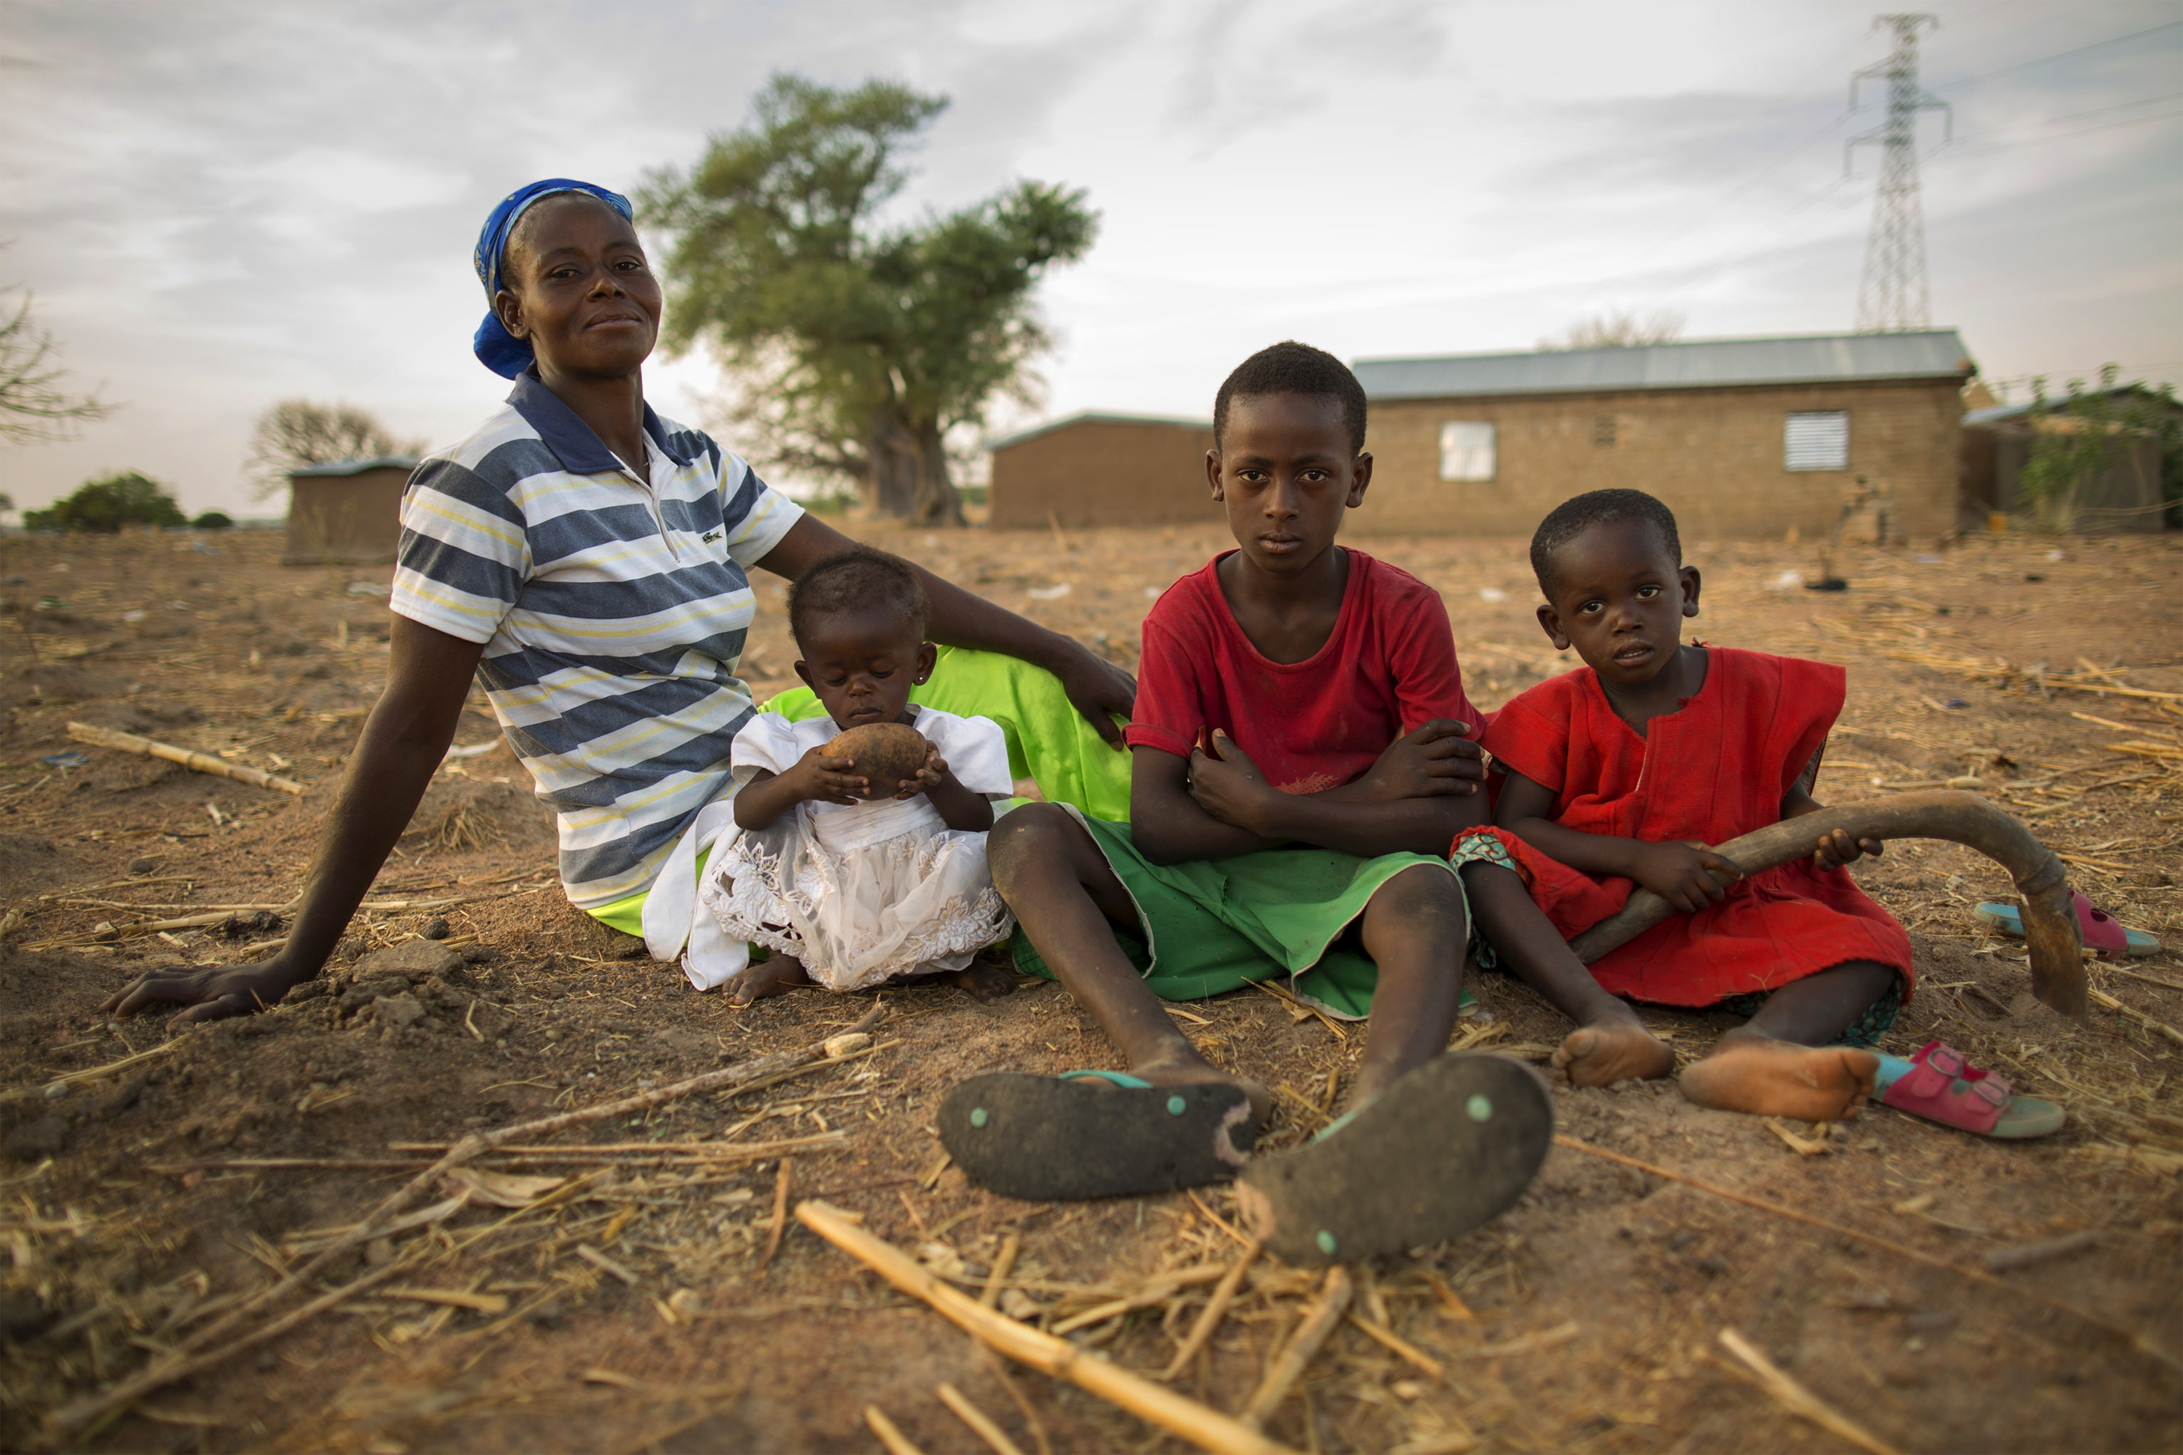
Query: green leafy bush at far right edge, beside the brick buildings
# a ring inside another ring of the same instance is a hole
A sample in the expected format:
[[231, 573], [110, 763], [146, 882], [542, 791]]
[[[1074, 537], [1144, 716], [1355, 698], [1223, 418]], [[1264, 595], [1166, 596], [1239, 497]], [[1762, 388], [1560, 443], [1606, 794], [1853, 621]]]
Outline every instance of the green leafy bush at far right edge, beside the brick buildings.
[[2100, 480], [2131, 460], [2148, 434], [2161, 447], [2161, 513], [2174, 513], [2183, 497], [2176, 469], [2183, 419], [2176, 414], [2174, 386], [2118, 386], [2118, 377], [2122, 366], [2104, 364], [2098, 388], [2087, 390], [2085, 380], [2069, 380], [2069, 390], [2059, 401], [2045, 397], [2045, 380], [2032, 380], [2032, 443], [2017, 476], [2017, 497], [2048, 530], [2076, 530]]

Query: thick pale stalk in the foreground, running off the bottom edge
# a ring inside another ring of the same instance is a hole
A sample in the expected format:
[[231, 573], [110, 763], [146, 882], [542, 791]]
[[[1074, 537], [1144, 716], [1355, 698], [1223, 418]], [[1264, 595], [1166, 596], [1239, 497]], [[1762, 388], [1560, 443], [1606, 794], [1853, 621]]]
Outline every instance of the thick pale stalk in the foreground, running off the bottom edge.
[[1057, 1339], [1050, 1333], [1017, 1324], [1013, 1318], [982, 1307], [969, 1294], [941, 1283], [930, 1270], [915, 1263], [893, 1243], [858, 1228], [836, 1206], [814, 1200], [799, 1202], [797, 1222], [871, 1267], [904, 1294], [923, 1298], [941, 1318], [991, 1344], [1017, 1363], [1028, 1363], [1054, 1379], [1065, 1379], [1078, 1390], [1120, 1405], [1140, 1420], [1181, 1435], [1201, 1451], [1214, 1451], [1216, 1455], [1295, 1455], [1295, 1451], [1286, 1451], [1286, 1446], [1266, 1440], [1255, 1429], [1231, 1420], [1218, 1409], [1207, 1409], [1196, 1400], [1155, 1385], [1142, 1374], [1116, 1368], [1067, 1339]]

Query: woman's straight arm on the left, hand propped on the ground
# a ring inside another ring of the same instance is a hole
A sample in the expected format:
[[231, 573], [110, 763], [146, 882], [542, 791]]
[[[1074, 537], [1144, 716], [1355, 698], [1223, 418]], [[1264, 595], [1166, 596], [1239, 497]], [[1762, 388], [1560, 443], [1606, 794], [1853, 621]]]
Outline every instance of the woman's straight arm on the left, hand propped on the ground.
[[151, 971], [100, 1010], [131, 1014], [144, 1006], [188, 1006], [177, 1023], [218, 1021], [264, 1010], [317, 975], [448, 757], [482, 650], [480, 641], [397, 615], [386, 692], [365, 720], [341, 794], [325, 816], [288, 945], [262, 964]]

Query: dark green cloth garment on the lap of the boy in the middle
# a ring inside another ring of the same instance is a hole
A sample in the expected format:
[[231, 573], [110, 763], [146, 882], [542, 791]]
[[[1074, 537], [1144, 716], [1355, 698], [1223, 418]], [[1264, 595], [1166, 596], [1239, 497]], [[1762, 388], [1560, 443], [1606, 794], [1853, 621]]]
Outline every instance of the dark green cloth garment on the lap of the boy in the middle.
[[[1116, 929], [1122, 953], [1144, 984], [1168, 1001], [1196, 1001], [1253, 979], [1288, 975], [1297, 997], [1332, 1017], [1371, 1014], [1380, 966], [1343, 931], [1364, 914], [1382, 883], [1432, 864], [1463, 888], [1447, 859], [1430, 853], [1384, 853], [1367, 859], [1334, 849], [1264, 849], [1233, 859], [1150, 864], [1131, 842], [1126, 822], [1085, 818], [1137, 905], [1144, 931]], [[1054, 979], [1046, 960], [1017, 929], [1015, 969]]]

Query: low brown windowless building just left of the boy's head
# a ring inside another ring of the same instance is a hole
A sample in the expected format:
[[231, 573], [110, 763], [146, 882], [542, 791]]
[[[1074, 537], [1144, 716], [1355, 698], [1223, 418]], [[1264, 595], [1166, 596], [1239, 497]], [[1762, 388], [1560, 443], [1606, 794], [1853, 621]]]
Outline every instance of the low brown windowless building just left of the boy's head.
[[1205, 489], [1214, 421], [1070, 414], [991, 441], [991, 526], [1203, 526], [1222, 519]]

